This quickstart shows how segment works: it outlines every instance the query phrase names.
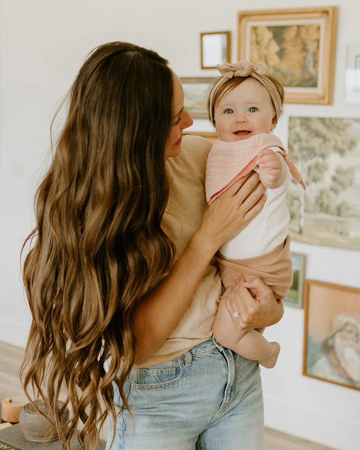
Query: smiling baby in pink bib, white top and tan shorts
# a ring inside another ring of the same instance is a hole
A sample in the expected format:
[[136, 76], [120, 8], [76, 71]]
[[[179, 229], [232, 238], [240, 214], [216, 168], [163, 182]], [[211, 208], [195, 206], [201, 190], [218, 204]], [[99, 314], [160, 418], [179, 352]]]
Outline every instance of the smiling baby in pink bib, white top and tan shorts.
[[[246, 281], [260, 277], [275, 298], [282, 299], [292, 283], [286, 191], [292, 176], [305, 188], [282, 142], [270, 134], [281, 114], [283, 88], [265, 74], [264, 62], [253, 65], [238, 61], [217, 68], [222, 76], [210, 91], [208, 112], [219, 139], [207, 159], [206, 200], [211, 203], [251, 170], [259, 173], [266, 187], [261, 212], [216, 254], [221, 281], [227, 288], [236, 275], [244, 275]], [[237, 317], [238, 311], [233, 315]], [[241, 356], [258, 360], [264, 367], [275, 365], [279, 344], [268, 342], [253, 329], [240, 331], [224, 299], [220, 300], [212, 332], [221, 345]]]

